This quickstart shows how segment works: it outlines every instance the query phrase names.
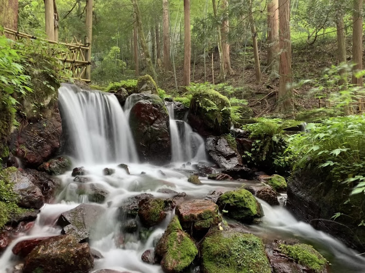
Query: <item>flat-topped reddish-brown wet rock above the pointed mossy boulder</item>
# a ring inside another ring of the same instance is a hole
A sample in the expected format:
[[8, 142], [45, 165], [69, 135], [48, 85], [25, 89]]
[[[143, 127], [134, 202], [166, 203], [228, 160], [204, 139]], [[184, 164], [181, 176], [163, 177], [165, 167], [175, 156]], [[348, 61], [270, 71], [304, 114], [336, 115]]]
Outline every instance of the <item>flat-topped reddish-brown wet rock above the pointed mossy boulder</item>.
[[194, 237], [204, 236], [211, 228], [218, 226], [221, 220], [218, 206], [209, 200], [189, 200], [176, 207], [176, 215], [184, 230], [192, 232]]

